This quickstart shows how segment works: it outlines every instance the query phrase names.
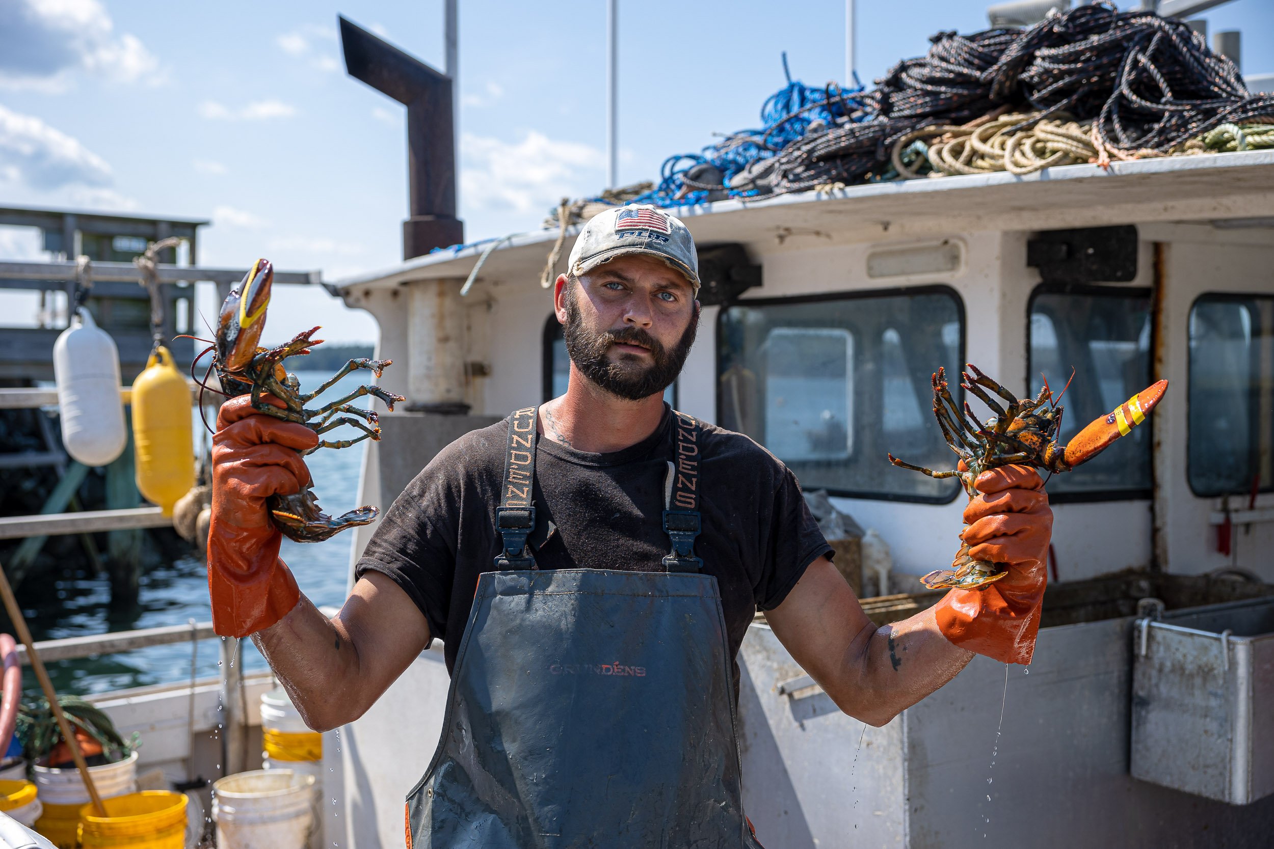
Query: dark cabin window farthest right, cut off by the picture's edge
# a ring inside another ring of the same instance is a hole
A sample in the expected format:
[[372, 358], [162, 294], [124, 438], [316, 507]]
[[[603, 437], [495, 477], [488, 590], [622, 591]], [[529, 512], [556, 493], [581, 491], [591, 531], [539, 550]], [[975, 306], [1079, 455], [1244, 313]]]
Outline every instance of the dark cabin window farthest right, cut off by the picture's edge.
[[1195, 300], [1187, 393], [1195, 495], [1274, 490], [1274, 298]]

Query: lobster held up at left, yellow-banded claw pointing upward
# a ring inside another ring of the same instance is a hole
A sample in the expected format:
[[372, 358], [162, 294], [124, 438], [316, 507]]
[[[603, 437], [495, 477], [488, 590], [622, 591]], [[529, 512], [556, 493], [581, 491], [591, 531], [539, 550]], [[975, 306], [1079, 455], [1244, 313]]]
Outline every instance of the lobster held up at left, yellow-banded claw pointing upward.
[[[200, 382], [206, 386], [208, 374], [217, 370], [222, 384], [222, 395], [237, 397], [251, 393], [252, 409], [257, 412], [284, 421], [296, 421], [312, 429], [322, 437], [340, 425], [352, 425], [362, 434], [353, 439], [327, 440], [306, 451], [313, 453], [320, 448], [348, 448], [363, 439], [380, 440], [380, 420], [373, 410], [364, 410], [350, 403], [354, 398], [372, 396], [385, 402], [392, 411], [394, 405], [405, 401], [400, 395], [387, 392], [378, 386], [359, 386], [353, 392], [326, 403], [317, 410], [307, 410], [306, 403], [330, 389], [340, 378], [357, 369], [367, 369], [377, 378], [392, 364], [392, 360], [353, 359], [313, 392], [302, 392], [296, 374], [283, 368], [283, 360], [310, 353], [315, 345], [322, 344], [313, 339], [318, 327], [297, 333], [292, 341], [278, 347], [265, 349], [257, 342], [265, 327], [265, 312], [270, 304], [270, 288], [274, 281], [274, 266], [269, 260], [257, 260], [248, 269], [243, 280], [231, 290], [218, 317], [213, 345], [195, 358], [197, 364], [205, 354], [211, 353], [213, 360]], [[206, 340], [205, 340], [206, 341]], [[194, 364], [191, 370], [194, 372]], [[264, 398], [270, 395], [283, 406], [275, 406]], [[203, 409], [200, 406], [200, 409]], [[206, 423], [205, 423], [206, 425]], [[377, 508], [359, 507], [338, 517], [331, 517], [318, 509], [318, 499], [312, 489], [306, 486], [294, 495], [274, 495], [268, 504], [274, 524], [289, 540], [297, 542], [321, 542], [341, 531], [376, 519]]]

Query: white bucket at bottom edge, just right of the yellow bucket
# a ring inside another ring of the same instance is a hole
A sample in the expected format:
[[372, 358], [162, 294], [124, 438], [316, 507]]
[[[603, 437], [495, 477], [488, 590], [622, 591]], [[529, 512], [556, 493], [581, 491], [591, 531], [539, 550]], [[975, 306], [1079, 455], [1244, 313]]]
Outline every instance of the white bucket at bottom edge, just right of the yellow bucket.
[[303, 849], [313, 825], [313, 775], [254, 770], [213, 782], [219, 849]]

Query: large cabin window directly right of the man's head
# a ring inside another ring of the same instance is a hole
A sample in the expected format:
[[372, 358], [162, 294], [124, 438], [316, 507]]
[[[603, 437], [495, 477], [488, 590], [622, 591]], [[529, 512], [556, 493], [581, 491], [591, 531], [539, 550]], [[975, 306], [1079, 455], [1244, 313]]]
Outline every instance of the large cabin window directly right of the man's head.
[[[934, 420], [930, 374], [959, 373], [964, 316], [945, 286], [745, 300], [717, 325], [717, 420], [782, 460], [806, 490], [944, 503], [959, 484]], [[958, 386], [953, 386], [957, 400]]]

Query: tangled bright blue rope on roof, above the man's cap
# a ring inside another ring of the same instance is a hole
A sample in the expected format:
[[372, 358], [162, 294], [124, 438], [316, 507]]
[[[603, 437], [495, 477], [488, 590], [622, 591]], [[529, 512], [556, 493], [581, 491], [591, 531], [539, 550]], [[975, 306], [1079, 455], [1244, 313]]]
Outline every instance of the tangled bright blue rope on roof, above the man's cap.
[[[731, 132], [721, 141], [707, 145], [701, 153], [679, 153], [669, 157], [660, 167], [659, 185], [631, 202], [654, 204], [661, 207], [702, 204], [712, 192], [685, 185], [687, 173], [693, 168], [703, 164], [716, 167], [727, 187], [733, 177], [753, 163], [769, 159], [791, 143], [805, 137], [815, 122], [833, 127], [869, 117], [866, 104], [856, 97], [864, 90], [857, 74], [854, 76], [854, 88], [841, 88], [836, 83], [817, 88], [792, 80], [786, 51], [782, 53], [782, 61], [787, 85], [766, 98], [761, 106], [759, 129]], [[755, 190], [717, 191], [725, 191], [730, 197], [749, 197], [757, 193]]]

